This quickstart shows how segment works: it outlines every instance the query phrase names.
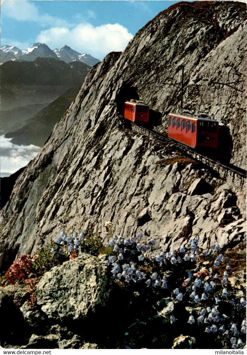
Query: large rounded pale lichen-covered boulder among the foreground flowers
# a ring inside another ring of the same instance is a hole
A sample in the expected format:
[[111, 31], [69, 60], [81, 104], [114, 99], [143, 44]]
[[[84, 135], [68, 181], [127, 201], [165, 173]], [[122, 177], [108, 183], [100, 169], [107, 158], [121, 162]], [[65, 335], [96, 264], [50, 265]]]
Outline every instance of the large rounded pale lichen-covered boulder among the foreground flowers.
[[88, 254], [54, 267], [37, 285], [37, 304], [48, 317], [85, 318], [108, 300], [111, 288], [106, 268]]

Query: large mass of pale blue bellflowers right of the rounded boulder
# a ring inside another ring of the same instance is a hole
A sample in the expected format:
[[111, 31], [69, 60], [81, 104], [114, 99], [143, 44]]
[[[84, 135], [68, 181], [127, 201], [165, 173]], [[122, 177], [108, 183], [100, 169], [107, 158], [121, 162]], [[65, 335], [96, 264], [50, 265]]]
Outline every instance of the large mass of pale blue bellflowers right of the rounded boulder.
[[[215, 334], [222, 343], [233, 349], [242, 348], [245, 342], [240, 338], [240, 334], [242, 333], [243, 336], [246, 334], [246, 320], [243, 319], [246, 300], [244, 297], [237, 300], [229, 286], [228, 277], [231, 265], [226, 263], [226, 258], [220, 253], [219, 244], [211, 245], [209, 249], [200, 252], [199, 237], [196, 237], [190, 239], [180, 250], [163, 251], [158, 256], [147, 258], [146, 252], [152, 249], [155, 240], [152, 238], [147, 244], [141, 244], [141, 237], [142, 233], [126, 239], [113, 235], [106, 244], [106, 246], [113, 247], [116, 254], [108, 257], [112, 277], [127, 283], [144, 282], [147, 286], [161, 287], [169, 291], [169, 280], [164, 271], [174, 268], [176, 264], [185, 264], [186, 270], [188, 262], [190, 262], [188, 266], [193, 268], [199, 258], [207, 258], [207, 260], [212, 260], [212, 267], [216, 270], [220, 266], [225, 266], [222, 277], [217, 272], [213, 275], [212, 269], [209, 272], [206, 267], [194, 273], [188, 271], [180, 288], [172, 291], [172, 296], [175, 302], [184, 302], [185, 306], [197, 308], [197, 311], [189, 316], [187, 323], [197, 323], [199, 327], [204, 327], [202, 331]], [[152, 271], [155, 269], [155, 272], [143, 272], [143, 266], [150, 266], [150, 262], [153, 265]], [[226, 311], [227, 314], [222, 310], [219, 311], [220, 302], [224, 301], [232, 307], [230, 314]], [[176, 321], [175, 316], [171, 315], [171, 324]]]

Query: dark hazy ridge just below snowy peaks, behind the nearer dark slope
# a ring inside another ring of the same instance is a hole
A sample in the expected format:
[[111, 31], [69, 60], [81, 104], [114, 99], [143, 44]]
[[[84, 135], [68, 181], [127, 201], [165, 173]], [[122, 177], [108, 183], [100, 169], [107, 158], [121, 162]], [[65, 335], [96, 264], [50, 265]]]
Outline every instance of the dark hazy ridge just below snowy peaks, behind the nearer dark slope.
[[1, 110], [48, 105], [66, 90], [81, 86], [91, 69], [82, 62], [67, 64], [54, 58], [5, 62], [1, 65]]

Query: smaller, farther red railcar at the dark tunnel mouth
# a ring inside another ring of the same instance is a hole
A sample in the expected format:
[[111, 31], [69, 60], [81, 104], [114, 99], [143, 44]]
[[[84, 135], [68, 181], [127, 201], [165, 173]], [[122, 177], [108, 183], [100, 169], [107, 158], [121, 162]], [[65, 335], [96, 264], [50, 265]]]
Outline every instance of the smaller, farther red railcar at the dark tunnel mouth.
[[124, 117], [132, 122], [148, 122], [148, 114], [148, 105], [131, 101], [124, 104]]

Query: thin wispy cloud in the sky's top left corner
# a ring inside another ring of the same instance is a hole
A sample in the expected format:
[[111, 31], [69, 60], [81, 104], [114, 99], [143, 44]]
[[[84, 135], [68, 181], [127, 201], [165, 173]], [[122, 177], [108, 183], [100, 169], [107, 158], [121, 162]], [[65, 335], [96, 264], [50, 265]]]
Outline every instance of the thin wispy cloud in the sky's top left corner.
[[17, 21], [32, 21], [46, 26], [49, 24], [53, 26], [73, 26], [60, 18], [39, 13], [37, 7], [30, 1], [4, 1], [3, 4], [5, 16]]

